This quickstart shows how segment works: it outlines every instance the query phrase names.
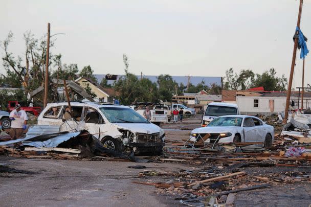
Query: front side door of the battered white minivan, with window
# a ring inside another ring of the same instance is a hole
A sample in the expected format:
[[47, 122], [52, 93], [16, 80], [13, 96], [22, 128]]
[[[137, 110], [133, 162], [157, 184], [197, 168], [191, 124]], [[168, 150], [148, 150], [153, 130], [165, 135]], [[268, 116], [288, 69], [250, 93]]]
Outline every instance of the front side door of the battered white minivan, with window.
[[87, 130], [99, 139], [104, 132], [104, 120], [95, 108], [84, 107], [82, 122], [78, 127]]

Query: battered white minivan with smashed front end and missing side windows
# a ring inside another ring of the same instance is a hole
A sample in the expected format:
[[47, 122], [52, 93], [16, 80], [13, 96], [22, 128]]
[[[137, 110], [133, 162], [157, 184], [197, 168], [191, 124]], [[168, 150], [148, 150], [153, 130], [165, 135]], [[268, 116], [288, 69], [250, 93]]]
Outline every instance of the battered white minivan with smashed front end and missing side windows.
[[60, 131], [85, 129], [116, 151], [130, 148], [160, 154], [165, 146], [164, 130], [127, 106], [71, 102], [69, 112], [68, 103], [48, 104], [38, 117], [38, 125], [58, 125]]

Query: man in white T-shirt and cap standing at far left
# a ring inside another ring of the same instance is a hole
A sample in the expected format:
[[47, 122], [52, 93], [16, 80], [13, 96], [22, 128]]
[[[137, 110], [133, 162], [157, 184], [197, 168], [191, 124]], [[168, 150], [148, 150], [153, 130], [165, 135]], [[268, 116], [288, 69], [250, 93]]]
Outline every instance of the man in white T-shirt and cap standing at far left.
[[20, 104], [16, 104], [15, 109], [10, 113], [11, 130], [10, 136], [12, 140], [19, 139], [23, 130], [27, 128], [27, 113], [20, 109]]

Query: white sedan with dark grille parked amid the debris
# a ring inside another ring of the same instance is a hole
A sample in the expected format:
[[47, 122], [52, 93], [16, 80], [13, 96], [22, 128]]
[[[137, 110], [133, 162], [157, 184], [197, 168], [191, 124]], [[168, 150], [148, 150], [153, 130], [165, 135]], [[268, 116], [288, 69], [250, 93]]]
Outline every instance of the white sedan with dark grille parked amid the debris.
[[206, 127], [193, 129], [190, 141], [204, 140], [205, 143], [262, 142], [271, 147], [274, 128], [253, 116], [222, 116]]

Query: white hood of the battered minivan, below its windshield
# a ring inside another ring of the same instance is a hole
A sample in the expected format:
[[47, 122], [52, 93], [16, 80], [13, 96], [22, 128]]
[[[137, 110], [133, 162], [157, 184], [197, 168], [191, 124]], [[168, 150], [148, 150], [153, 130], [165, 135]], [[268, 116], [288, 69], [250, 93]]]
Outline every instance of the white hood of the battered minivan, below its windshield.
[[142, 123], [113, 123], [120, 129], [126, 129], [131, 132], [138, 132], [138, 133], [158, 133], [160, 132], [160, 127], [155, 124], [142, 124]]

